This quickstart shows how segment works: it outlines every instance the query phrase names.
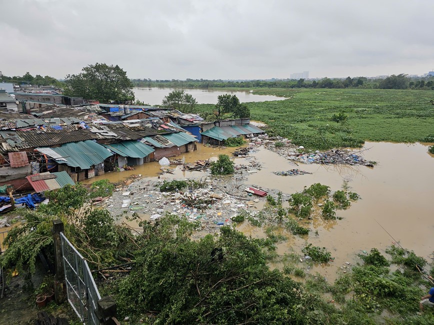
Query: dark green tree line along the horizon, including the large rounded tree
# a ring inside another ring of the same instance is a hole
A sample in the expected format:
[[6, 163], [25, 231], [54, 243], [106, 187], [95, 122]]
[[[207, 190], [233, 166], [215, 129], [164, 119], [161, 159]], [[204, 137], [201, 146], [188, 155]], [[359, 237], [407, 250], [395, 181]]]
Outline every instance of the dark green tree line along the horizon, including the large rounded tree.
[[333, 78], [319, 80], [244, 80], [224, 81], [205, 79], [186, 80], [151, 80], [130, 79], [126, 71], [118, 65], [105, 63], [89, 64], [78, 74], [68, 74], [60, 81], [54, 77], [39, 74], [32, 76], [26, 72], [23, 76], [0, 76], [2, 82], [31, 84], [36, 86], [54, 85], [63, 88], [67, 96], [99, 100], [101, 102], [132, 102], [133, 87], [170, 87], [170, 88], [366, 88], [366, 89], [419, 89], [434, 90], [434, 77], [408, 77], [406, 74], [386, 78], [368, 79], [366, 77]]

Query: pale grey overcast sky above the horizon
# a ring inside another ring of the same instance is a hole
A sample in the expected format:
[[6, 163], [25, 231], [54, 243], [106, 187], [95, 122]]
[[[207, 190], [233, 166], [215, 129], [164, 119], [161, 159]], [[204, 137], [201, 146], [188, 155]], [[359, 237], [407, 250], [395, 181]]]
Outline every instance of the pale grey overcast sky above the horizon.
[[433, 0], [0, 0], [0, 71], [64, 78], [95, 62], [130, 78], [423, 74]]

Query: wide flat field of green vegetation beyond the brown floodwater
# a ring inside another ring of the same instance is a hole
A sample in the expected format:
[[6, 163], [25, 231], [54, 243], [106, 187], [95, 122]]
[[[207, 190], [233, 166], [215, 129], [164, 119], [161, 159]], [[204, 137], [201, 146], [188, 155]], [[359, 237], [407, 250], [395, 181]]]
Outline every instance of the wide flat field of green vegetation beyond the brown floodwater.
[[[268, 134], [311, 149], [357, 147], [365, 140], [415, 142], [434, 134], [433, 91], [259, 88], [253, 93], [287, 99], [247, 103], [252, 120], [267, 123]], [[212, 107], [197, 105], [200, 112]], [[341, 112], [345, 120], [331, 120]]]

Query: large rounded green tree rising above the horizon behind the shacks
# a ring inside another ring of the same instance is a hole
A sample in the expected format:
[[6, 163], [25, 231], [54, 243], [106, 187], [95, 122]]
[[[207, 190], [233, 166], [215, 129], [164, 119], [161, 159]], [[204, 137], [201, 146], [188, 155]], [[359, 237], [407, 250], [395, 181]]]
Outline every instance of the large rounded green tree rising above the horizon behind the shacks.
[[66, 95], [95, 99], [103, 103], [134, 100], [132, 83], [118, 65], [95, 63], [83, 67], [81, 71], [79, 74], [66, 76]]

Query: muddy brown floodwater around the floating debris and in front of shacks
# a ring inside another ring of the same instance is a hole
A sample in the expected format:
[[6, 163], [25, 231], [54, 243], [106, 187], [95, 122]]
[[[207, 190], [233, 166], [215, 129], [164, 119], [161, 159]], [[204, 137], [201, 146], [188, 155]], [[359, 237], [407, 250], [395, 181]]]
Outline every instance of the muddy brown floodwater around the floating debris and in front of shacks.
[[[197, 148], [197, 152], [176, 158], [185, 156], [186, 162], [192, 162], [211, 157], [215, 159], [218, 154], [230, 154], [234, 151], [234, 148], [219, 150], [200, 144]], [[328, 280], [333, 280], [340, 268], [346, 265], [345, 262], [357, 262], [355, 254], [369, 251], [373, 247], [383, 251], [394, 242], [381, 226], [406, 249], [414, 250], [417, 255], [425, 258], [432, 254], [434, 221], [431, 200], [434, 194], [434, 157], [427, 153], [427, 144], [366, 142], [364, 149], [368, 149], [363, 152], [365, 159], [378, 162], [374, 168], [316, 164], [296, 166], [285, 157], [262, 147], [251, 153], [261, 164], [261, 169], [248, 174], [247, 180], [244, 181], [246, 185], [275, 189], [289, 195], [317, 182], [330, 186], [331, 191], [336, 191], [341, 189], [345, 181], [351, 191], [361, 197], [357, 202], [353, 202], [349, 209], [336, 212], [342, 220], [323, 221], [317, 218], [312, 221], [308, 236], [287, 234], [288, 240], [277, 245], [279, 255], [291, 250], [300, 253], [300, 248], [307, 243], [325, 247], [332, 253], [335, 261], [325, 267], [317, 266], [310, 272], [320, 272]], [[248, 160], [244, 158], [235, 158], [234, 161], [237, 165], [248, 164]], [[272, 173], [292, 168], [300, 168], [312, 174], [285, 177]], [[141, 174], [142, 178], [156, 179], [158, 172], [160, 166], [154, 162], [137, 166], [134, 171], [112, 172], [98, 178], [116, 182], [131, 174]], [[174, 167], [173, 174], [163, 174], [160, 179], [200, 179], [204, 175], [205, 173], [197, 171], [182, 172], [179, 167]], [[261, 199], [254, 208], [260, 209], [263, 204], [264, 200]], [[143, 214], [142, 217], [148, 219], [149, 216]], [[126, 223], [137, 227], [134, 221]], [[238, 229], [254, 238], [265, 237], [262, 228], [253, 227], [248, 223], [240, 224]]]

